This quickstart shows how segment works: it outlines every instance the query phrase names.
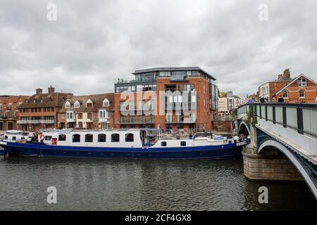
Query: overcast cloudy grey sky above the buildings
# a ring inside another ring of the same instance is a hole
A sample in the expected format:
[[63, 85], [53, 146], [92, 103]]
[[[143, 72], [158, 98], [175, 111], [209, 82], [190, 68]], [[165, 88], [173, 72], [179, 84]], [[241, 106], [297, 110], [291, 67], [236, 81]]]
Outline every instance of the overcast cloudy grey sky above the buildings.
[[113, 92], [137, 69], [199, 66], [245, 96], [285, 68], [316, 80], [316, 51], [316, 0], [0, 1], [0, 95]]

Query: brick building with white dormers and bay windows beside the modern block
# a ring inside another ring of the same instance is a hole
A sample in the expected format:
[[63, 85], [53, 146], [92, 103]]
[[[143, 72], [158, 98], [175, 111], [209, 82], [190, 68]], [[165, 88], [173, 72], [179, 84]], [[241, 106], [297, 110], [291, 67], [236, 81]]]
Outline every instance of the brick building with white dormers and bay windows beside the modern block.
[[67, 98], [58, 111], [58, 128], [112, 129], [113, 109], [113, 93]]

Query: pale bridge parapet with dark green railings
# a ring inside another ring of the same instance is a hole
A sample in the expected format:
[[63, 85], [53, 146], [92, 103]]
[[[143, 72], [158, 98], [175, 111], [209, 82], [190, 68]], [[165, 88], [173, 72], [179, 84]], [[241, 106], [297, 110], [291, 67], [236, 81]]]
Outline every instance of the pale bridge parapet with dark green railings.
[[237, 118], [246, 120], [249, 113], [256, 128], [317, 165], [317, 104], [254, 103], [238, 108]]

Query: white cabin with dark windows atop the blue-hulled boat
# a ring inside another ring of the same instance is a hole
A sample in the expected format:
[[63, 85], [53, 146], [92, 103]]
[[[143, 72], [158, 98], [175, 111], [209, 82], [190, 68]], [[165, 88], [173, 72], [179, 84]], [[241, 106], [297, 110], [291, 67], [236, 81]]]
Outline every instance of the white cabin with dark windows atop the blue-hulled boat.
[[[42, 131], [39, 141], [57, 146], [89, 146], [106, 148], [170, 148], [192, 146], [217, 146], [230, 143], [223, 136], [177, 136], [147, 129], [125, 130], [51, 130]], [[230, 142], [229, 142], [230, 141]]]

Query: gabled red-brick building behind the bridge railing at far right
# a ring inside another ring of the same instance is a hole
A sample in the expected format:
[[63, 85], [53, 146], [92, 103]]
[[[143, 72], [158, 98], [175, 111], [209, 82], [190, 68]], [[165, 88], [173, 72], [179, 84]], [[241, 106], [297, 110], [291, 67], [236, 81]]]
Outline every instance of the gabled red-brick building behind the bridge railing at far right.
[[275, 95], [277, 99], [284, 98], [286, 103], [316, 103], [317, 83], [305, 75], [299, 75]]

